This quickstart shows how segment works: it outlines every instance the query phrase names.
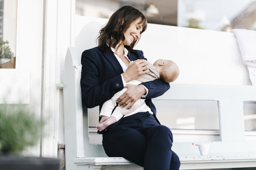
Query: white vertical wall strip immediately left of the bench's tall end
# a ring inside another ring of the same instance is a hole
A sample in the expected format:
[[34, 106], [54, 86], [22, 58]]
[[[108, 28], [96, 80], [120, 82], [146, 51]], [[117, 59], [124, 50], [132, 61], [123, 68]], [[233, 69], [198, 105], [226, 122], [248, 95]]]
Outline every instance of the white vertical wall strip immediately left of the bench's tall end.
[[49, 126], [45, 128], [43, 156], [57, 156], [58, 143], [65, 143], [63, 125], [63, 95], [57, 89], [62, 82], [62, 72], [67, 48], [72, 44], [74, 0], [45, 1], [44, 84], [43, 108]]

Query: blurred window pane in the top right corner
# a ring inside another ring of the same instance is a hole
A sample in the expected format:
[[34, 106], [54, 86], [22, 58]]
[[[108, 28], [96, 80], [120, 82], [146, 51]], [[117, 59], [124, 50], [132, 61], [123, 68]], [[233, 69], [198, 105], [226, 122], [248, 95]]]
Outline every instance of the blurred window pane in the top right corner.
[[256, 29], [255, 0], [179, 0], [178, 26], [230, 31]]

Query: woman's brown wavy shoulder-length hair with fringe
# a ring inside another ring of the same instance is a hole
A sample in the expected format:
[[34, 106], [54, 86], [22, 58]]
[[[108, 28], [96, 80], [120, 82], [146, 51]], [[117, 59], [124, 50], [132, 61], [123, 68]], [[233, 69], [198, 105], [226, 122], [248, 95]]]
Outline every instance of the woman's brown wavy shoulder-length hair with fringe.
[[[139, 24], [142, 23], [142, 33], [147, 29], [147, 19], [137, 8], [133, 6], [123, 6], [114, 12], [105, 27], [99, 32], [97, 39], [100, 50], [106, 51], [109, 48], [111, 51], [111, 47], [115, 48], [120, 41], [124, 41], [124, 32], [130, 27], [131, 23], [138, 18], [141, 18]], [[138, 39], [133, 41], [130, 46], [126, 47], [131, 51], [137, 43]]]

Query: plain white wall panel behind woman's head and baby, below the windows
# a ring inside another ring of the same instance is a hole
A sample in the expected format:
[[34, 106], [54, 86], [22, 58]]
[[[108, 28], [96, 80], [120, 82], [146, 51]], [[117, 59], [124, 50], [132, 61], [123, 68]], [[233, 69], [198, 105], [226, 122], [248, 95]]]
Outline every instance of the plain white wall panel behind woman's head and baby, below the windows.
[[[75, 21], [78, 54], [95, 47], [96, 37], [107, 19], [79, 16]], [[149, 62], [173, 60], [180, 67], [174, 83], [251, 85], [233, 33], [148, 24], [135, 49]]]

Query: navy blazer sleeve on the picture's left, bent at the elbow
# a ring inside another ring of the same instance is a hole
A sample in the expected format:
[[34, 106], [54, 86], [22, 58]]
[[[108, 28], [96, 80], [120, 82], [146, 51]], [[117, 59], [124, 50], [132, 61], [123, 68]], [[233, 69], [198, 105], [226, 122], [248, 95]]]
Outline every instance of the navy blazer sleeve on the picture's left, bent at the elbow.
[[[102, 105], [117, 91], [123, 89], [121, 74], [109, 73], [110, 76], [105, 70], [101, 70], [105, 63], [99, 62], [97, 55], [102, 54], [97, 50], [85, 50], [81, 58], [82, 102], [87, 108]], [[107, 74], [109, 77], [102, 76], [102, 74]]]

